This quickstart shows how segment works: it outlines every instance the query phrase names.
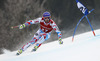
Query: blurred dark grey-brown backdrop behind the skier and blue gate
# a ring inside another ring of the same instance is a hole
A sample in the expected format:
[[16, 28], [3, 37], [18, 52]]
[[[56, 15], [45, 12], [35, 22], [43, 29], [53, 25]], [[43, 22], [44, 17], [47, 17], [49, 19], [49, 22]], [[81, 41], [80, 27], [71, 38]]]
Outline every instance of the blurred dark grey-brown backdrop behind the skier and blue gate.
[[[100, 0], [79, 0], [88, 10], [95, 9], [88, 15], [94, 30], [100, 28]], [[10, 51], [20, 49], [30, 41], [39, 29], [39, 24], [28, 26], [22, 30], [11, 29], [28, 20], [42, 17], [43, 12], [49, 11], [52, 19], [62, 32], [62, 38], [73, 35], [74, 29], [83, 16], [77, 8], [75, 0], [0, 0], [0, 53], [2, 49]], [[79, 24], [76, 34], [91, 31], [84, 18]], [[54, 37], [55, 36], [55, 37]], [[51, 38], [44, 43], [57, 40], [53, 31]]]

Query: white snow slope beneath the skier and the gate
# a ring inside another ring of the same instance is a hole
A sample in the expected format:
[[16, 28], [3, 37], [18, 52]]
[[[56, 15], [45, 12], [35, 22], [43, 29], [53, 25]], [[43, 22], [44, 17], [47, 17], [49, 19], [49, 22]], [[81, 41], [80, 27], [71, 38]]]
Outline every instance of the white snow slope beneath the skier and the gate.
[[36, 52], [31, 52], [33, 46], [24, 53], [16, 56], [16, 52], [4, 49], [0, 61], [100, 61], [100, 29], [63, 39], [64, 44], [58, 41], [41, 45]]

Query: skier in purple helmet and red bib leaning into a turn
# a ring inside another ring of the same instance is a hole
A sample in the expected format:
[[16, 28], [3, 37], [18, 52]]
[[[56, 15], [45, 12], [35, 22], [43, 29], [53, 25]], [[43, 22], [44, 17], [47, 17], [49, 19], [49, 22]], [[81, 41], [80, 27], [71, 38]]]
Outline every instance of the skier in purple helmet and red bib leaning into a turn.
[[[22, 25], [19, 26], [19, 29], [23, 29], [24, 27], [31, 25], [31, 24], [37, 24], [40, 23], [40, 29], [35, 33], [34, 37], [32, 38], [32, 40], [27, 43], [26, 45], [24, 45], [18, 52], [16, 55], [20, 55], [22, 52], [24, 52], [29, 46], [33, 45], [36, 43], [36, 45], [34, 46], [33, 51], [36, 51], [41, 44], [46, 41], [47, 39], [50, 38], [51, 32], [54, 29], [57, 34], [58, 34], [58, 40], [60, 44], [63, 44], [62, 41], [62, 36], [61, 36], [61, 32], [58, 28], [58, 26], [56, 25], [56, 23], [51, 19], [51, 15], [49, 12], [44, 12], [43, 13], [43, 17], [42, 18], [37, 18], [35, 20], [30, 20]], [[39, 41], [38, 41], [39, 40]]]

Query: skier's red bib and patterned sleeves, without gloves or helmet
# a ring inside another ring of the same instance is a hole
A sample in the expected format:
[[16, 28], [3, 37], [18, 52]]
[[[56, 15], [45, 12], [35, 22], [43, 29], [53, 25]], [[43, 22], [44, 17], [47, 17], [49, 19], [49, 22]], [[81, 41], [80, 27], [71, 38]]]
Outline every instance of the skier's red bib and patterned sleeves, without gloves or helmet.
[[35, 20], [30, 20], [26, 22], [25, 25], [27, 26], [31, 24], [37, 24], [37, 23], [40, 23], [40, 29], [44, 33], [49, 33], [54, 29], [58, 34], [58, 38], [61, 38], [61, 32], [58, 26], [56, 25], [56, 23], [52, 19], [50, 19], [49, 23], [45, 23], [44, 18], [37, 18]]

